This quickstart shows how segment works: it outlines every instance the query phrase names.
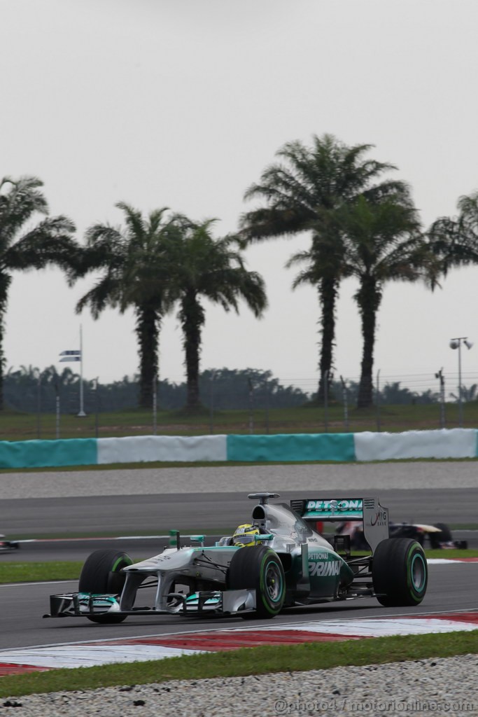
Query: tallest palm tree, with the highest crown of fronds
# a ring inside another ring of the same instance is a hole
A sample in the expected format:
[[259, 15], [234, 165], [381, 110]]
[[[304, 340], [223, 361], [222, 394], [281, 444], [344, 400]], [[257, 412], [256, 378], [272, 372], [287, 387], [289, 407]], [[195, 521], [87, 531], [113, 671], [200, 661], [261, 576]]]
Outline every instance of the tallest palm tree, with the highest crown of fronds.
[[[370, 144], [346, 146], [334, 136], [312, 136], [312, 146], [300, 141], [286, 143], [279, 151], [279, 163], [262, 174], [259, 184], [247, 189], [245, 198], [264, 199], [267, 206], [244, 214], [242, 237], [246, 242], [272, 237], [312, 233], [309, 270], [295, 281], [317, 288], [321, 305], [319, 390], [323, 400], [323, 377], [332, 381], [335, 303], [343, 259], [343, 239], [335, 232], [333, 212], [353, 202], [358, 194], [379, 201], [406, 191], [400, 181], [376, 181], [396, 169], [389, 163], [366, 159]], [[292, 259], [291, 263], [296, 261]]]

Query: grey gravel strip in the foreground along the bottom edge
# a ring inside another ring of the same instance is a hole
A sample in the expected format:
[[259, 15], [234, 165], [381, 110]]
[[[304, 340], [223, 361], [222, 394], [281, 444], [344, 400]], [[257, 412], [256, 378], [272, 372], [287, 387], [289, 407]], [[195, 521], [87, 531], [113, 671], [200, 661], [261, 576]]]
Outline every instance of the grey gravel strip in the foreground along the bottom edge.
[[124, 685], [0, 701], [16, 717], [277, 717], [478, 713], [478, 656], [156, 685]]

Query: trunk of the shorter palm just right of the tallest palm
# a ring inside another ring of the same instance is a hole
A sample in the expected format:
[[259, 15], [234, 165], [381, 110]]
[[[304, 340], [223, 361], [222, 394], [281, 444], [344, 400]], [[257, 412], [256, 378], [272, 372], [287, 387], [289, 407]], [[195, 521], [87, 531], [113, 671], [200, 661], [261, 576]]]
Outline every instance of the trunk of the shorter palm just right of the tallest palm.
[[363, 350], [358, 384], [357, 408], [373, 406], [373, 349], [375, 347], [376, 316], [381, 301], [381, 291], [373, 277], [362, 280], [357, 295], [362, 318]]

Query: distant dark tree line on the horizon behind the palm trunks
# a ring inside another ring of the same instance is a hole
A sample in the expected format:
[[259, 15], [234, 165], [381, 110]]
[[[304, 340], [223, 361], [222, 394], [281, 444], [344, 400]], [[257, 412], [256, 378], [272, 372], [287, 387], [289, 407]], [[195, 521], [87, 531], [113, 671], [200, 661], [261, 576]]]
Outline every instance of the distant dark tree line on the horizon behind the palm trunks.
[[[151, 387], [153, 390], [153, 386]], [[277, 409], [316, 405], [317, 396], [307, 394], [295, 386], [283, 386], [272, 371], [259, 369], [207, 369], [199, 376], [199, 389], [204, 406], [215, 411], [246, 409]], [[462, 400], [478, 399], [478, 386], [462, 386]], [[347, 381], [347, 402], [356, 404], [360, 386], [357, 381]], [[4, 379], [6, 407], [29, 413], [52, 413], [56, 410], [57, 397], [62, 413], [76, 414], [80, 405], [80, 376], [70, 368], [61, 373], [55, 366], [40, 371], [32, 366], [9, 369]], [[83, 380], [83, 395], [87, 413], [121, 411], [138, 407], [140, 391], [139, 376], [124, 376], [120, 381], [101, 384], [96, 380]], [[340, 381], [330, 386], [330, 404], [344, 402], [344, 387]], [[174, 411], [186, 404], [187, 384], [158, 381], [156, 395], [158, 410]], [[431, 391], [411, 391], [400, 381], [386, 383], [379, 392], [378, 401], [384, 405], [438, 403], [440, 395]], [[453, 402], [458, 400], [449, 394]]]

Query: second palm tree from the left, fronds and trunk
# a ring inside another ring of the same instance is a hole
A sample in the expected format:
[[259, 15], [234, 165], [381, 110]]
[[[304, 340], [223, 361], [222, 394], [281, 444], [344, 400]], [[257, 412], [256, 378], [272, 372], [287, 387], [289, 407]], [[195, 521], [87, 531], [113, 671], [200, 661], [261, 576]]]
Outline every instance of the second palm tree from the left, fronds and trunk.
[[158, 377], [158, 341], [161, 319], [167, 310], [166, 237], [173, 224], [166, 208], [150, 212], [145, 219], [129, 204], [115, 206], [125, 216], [125, 227], [95, 224], [87, 229], [86, 248], [74, 279], [92, 270], [100, 279], [77, 303], [77, 313], [90, 305], [97, 319], [107, 307], [124, 313], [133, 308], [140, 361], [140, 407], [152, 406]]

